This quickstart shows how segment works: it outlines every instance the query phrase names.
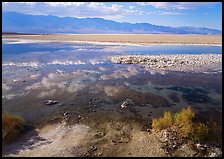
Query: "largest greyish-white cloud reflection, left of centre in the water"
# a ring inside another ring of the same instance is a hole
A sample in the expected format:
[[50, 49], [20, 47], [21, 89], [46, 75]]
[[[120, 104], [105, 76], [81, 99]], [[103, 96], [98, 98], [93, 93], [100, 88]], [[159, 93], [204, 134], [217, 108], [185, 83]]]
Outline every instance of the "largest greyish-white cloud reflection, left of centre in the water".
[[[89, 74], [86, 74], [86, 73]], [[60, 74], [50, 73], [48, 76], [43, 77], [41, 81], [36, 82], [32, 85], [26, 86], [26, 91], [41, 90], [41, 94], [38, 97], [44, 97], [49, 92], [49, 95], [56, 93], [54, 90], [60, 89], [61, 92], [75, 93], [84, 89], [88, 84], [94, 83], [96, 78], [93, 74], [99, 72], [91, 70], [77, 70], [71, 73]]]

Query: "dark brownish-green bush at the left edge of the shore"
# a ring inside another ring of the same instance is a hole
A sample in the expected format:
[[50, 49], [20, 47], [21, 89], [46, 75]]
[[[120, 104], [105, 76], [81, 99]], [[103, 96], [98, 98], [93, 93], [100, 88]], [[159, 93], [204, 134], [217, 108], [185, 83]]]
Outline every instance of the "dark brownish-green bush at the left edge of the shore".
[[2, 112], [2, 141], [8, 143], [16, 139], [23, 130], [24, 120], [18, 115]]

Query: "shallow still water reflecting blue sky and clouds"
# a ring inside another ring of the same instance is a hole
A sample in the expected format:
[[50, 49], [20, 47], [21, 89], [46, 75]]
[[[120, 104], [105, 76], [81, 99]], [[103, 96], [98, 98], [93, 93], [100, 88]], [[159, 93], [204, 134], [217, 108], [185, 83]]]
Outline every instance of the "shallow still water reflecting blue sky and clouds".
[[[155, 72], [107, 60], [130, 54], [221, 54], [220, 46], [17, 41], [3, 41], [2, 46], [3, 110], [22, 115], [28, 122], [65, 111], [150, 120], [164, 111], [191, 106], [201, 120], [212, 117], [222, 123], [222, 72]], [[46, 106], [47, 99], [59, 103]], [[120, 111], [126, 99], [135, 103], [134, 111]], [[87, 110], [91, 105], [94, 111]]]

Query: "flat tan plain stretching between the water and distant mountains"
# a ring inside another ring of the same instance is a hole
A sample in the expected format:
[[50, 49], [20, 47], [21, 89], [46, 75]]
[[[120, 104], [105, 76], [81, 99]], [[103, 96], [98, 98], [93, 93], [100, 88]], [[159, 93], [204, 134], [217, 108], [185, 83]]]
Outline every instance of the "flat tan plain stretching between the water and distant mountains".
[[175, 34], [58, 34], [58, 35], [4, 35], [3, 39], [29, 39], [43, 41], [85, 41], [131, 44], [211, 44], [222, 45], [221, 35]]

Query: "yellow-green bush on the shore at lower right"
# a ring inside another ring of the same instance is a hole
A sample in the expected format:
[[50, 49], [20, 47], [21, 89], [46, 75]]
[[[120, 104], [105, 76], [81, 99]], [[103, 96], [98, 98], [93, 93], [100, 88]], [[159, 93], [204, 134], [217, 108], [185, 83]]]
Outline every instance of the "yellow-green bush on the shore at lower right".
[[181, 138], [187, 138], [193, 141], [205, 141], [209, 128], [203, 123], [194, 123], [195, 113], [192, 109], [183, 108], [180, 112], [171, 114], [165, 112], [162, 118], [152, 120], [152, 129], [160, 131], [166, 128], [171, 128], [177, 131]]

